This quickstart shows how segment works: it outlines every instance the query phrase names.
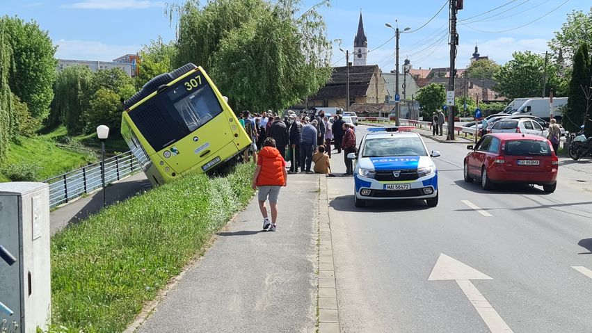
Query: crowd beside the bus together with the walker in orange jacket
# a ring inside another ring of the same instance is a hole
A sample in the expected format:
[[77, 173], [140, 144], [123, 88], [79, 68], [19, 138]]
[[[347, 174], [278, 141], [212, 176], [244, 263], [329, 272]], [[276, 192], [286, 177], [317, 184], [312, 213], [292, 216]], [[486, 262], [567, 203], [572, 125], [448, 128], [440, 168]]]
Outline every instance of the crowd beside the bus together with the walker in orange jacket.
[[[278, 228], [278, 197], [282, 186], [287, 186], [288, 173], [319, 173], [333, 176], [330, 159], [332, 150], [344, 152], [346, 173], [352, 176], [352, 161], [347, 154], [355, 152], [353, 124], [346, 123], [342, 115], [329, 121], [324, 111], [288, 111], [286, 115], [268, 111], [252, 115], [243, 111], [239, 122], [251, 138], [243, 161], [253, 161], [257, 167], [253, 174], [253, 189], [257, 189], [263, 229], [275, 232]], [[335, 145], [332, 149], [331, 143]], [[289, 172], [286, 171], [290, 162]], [[314, 163], [314, 167], [312, 166]], [[312, 168], [312, 170], [311, 170]], [[269, 201], [271, 219], [267, 213]]]

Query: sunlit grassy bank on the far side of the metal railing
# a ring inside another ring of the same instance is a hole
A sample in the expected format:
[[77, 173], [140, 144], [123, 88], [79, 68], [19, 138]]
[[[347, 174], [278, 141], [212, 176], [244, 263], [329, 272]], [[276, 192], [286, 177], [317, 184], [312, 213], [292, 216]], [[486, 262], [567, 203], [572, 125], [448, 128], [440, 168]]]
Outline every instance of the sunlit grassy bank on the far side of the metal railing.
[[[65, 127], [52, 129], [32, 138], [19, 137], [10, 143], [6, 159], [0, 165], [2, 181], [42, 181], [98, 161], [101, 149], [96, 134], [67, 135]], [[122, 139], [107, 139], [106, 151], [127, 152]]]

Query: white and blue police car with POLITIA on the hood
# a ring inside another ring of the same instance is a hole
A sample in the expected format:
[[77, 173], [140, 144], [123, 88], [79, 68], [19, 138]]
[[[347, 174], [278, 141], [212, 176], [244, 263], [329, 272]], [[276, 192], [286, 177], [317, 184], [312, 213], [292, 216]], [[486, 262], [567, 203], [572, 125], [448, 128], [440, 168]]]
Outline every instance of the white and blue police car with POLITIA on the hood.
[[369, 200], [424, 199], [428, 206], [438, 205], [438, 170], [422, 137], [413, 127], [368, 129], [357, 153], [353, 169], [355, 206]]

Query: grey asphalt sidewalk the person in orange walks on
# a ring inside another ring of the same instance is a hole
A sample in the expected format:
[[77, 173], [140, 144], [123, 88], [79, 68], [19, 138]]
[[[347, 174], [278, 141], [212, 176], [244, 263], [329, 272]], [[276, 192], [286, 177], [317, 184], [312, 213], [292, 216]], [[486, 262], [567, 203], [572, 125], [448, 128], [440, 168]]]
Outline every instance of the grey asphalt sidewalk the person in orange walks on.
[[126, 332], [314, 332], [319, 175], [289, 175], [278, 204], [264, 232], [254, 197]]

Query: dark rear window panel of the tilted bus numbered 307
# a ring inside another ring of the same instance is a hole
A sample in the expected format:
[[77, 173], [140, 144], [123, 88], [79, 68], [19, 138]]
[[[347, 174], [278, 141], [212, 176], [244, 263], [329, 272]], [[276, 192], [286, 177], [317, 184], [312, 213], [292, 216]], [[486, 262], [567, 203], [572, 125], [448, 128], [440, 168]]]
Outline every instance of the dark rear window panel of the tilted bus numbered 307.
[[195, 72], [129, 111], [129, 117], [158, 152], [220, 113], [222, 106], [211, 86]]

